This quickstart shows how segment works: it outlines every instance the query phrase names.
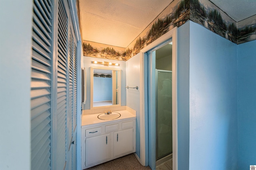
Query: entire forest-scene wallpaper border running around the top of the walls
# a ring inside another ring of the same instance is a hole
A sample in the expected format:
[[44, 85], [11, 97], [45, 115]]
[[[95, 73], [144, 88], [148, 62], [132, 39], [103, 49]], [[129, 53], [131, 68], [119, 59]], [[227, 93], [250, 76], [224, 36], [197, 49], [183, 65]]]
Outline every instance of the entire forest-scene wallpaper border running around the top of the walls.
[[236, 22], [210, 0], [173, 0], [128, 47], [83, 41], [84, 55], [127, 61], [172, 28], [180, 27], [188, 20], [236, 44], [256, 39], [256, 15]]

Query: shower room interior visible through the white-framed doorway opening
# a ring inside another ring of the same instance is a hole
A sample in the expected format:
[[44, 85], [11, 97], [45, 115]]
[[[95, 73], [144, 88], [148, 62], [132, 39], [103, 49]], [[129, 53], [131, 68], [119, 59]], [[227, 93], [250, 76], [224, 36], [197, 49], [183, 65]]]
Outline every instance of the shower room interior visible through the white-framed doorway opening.
[[155, 169], [172, 159], [172, 42], [165, 42], [147, 55], [148, 164]]

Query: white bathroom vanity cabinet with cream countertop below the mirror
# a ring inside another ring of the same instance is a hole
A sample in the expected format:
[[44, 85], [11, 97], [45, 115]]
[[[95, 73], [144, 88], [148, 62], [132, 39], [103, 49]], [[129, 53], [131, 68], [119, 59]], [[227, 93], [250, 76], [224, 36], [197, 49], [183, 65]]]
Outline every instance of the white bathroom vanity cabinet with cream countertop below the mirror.
[[[102, 120], [96, 114], [82, 115], [82, 170], [135, 152], [136, 112], [113, 111], [120, 117]], [[113, 116], [110, 114], [110, 116]], [[108, 117], [108, 115], [104, 115]]]

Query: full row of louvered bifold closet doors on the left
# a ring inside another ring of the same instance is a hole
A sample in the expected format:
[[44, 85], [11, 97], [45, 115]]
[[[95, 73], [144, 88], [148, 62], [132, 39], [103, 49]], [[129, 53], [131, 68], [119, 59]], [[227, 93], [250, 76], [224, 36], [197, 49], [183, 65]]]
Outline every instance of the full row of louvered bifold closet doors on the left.
[[31, 169], [76, 169], [78, 42], [68, 1], [34, 0], [33, 10]]

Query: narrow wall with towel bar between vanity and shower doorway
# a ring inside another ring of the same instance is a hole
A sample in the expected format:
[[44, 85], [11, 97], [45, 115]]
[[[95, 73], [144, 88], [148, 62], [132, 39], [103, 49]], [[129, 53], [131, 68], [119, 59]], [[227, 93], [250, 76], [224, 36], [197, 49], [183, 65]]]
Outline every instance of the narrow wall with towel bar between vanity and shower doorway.
[[[136, 154], [140, 158], [140, 53], [126, 61], [126, 106], [136, 110]], [[136, 76], [134, 76], [136, 75]]]

